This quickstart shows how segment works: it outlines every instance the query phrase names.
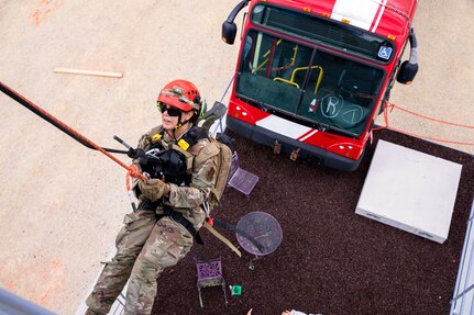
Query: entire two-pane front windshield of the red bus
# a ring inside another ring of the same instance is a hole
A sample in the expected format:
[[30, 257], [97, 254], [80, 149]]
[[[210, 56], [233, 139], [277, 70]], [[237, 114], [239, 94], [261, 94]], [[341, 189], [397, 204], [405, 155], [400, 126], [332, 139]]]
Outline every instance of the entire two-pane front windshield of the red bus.
[[240, 98], [307, 124], [363, 133], [376, 105], [382, 69], [254, 30], [242, 54]]

